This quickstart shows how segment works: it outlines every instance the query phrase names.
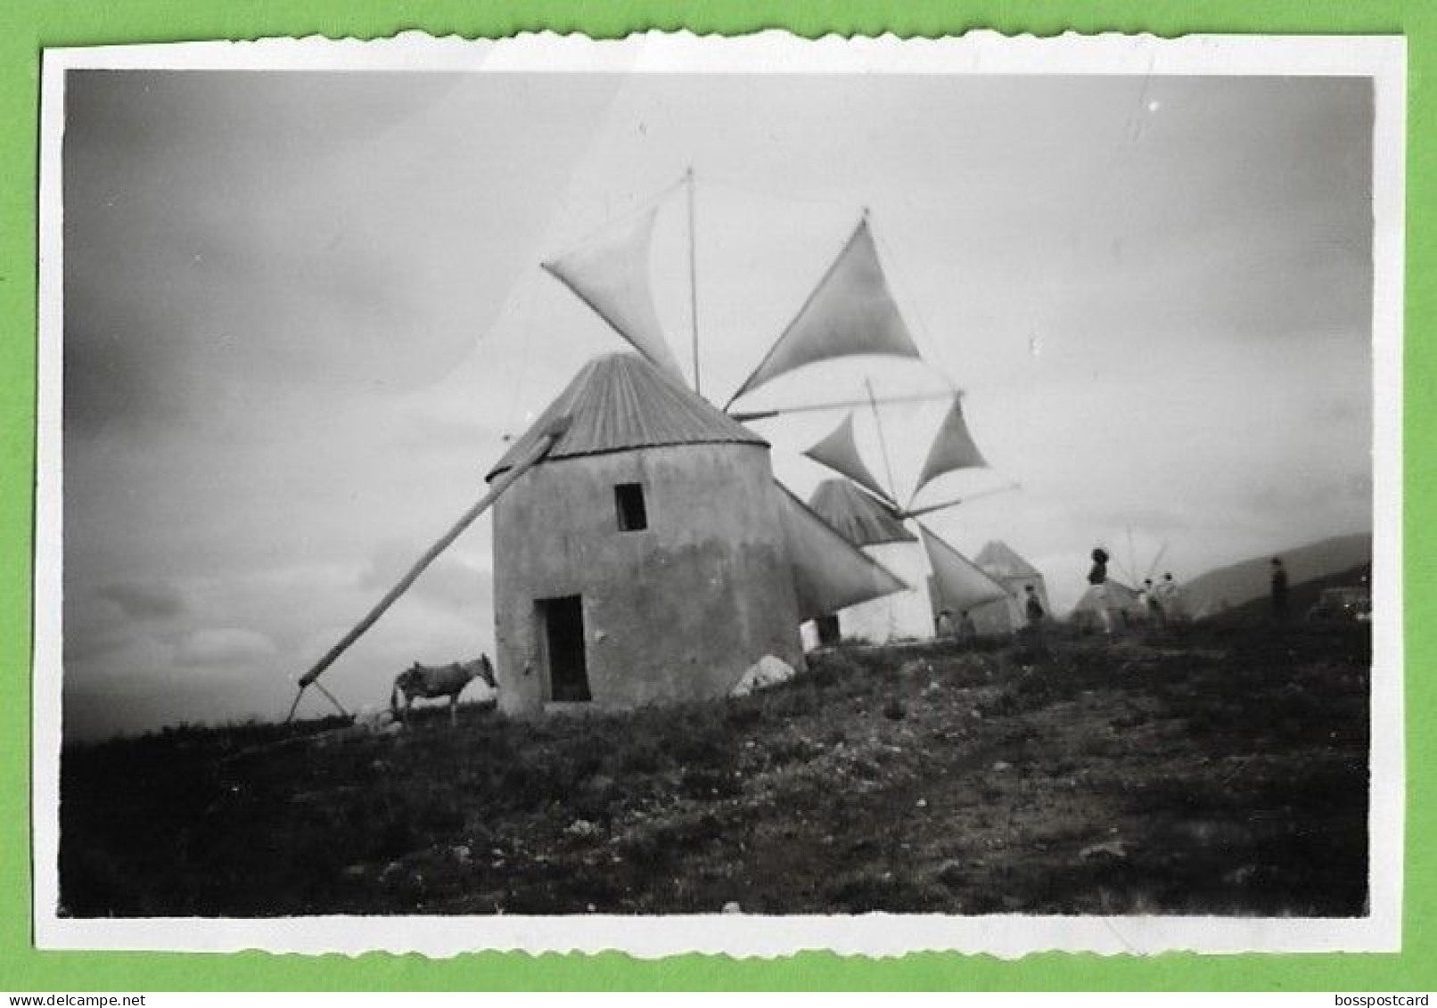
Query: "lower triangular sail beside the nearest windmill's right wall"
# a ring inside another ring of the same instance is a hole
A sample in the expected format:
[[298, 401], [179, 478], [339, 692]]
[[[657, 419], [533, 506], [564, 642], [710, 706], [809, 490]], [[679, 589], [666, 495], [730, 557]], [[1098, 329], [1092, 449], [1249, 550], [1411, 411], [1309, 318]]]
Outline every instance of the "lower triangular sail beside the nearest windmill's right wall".
[[869, 599], [908, 589], [867, 553], [825, 524], [798, 497], [775, 482], [798, 593], [799, 619], [836, 613]]

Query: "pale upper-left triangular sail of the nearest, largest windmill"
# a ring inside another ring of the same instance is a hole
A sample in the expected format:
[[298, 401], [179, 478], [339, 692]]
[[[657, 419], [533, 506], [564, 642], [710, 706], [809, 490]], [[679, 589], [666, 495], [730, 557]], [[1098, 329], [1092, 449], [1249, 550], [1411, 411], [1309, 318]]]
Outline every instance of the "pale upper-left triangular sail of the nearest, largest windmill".
[[670, 375], [683, 381], [650, 286], [650, 246], [658, 207], [618, 221], [598, 237], [543, 264], [619, 336]]

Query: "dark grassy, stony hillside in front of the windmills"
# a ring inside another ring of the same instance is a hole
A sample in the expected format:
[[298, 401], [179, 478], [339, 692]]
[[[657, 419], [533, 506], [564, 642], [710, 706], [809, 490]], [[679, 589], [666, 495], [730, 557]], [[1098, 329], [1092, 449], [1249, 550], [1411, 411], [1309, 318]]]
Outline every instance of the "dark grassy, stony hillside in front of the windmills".
[[634, 714], [70, 748], [63, 912], [1364, 912], [1358, 627], [812, 665]]

